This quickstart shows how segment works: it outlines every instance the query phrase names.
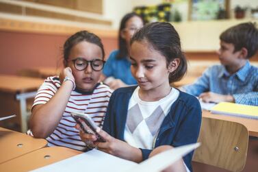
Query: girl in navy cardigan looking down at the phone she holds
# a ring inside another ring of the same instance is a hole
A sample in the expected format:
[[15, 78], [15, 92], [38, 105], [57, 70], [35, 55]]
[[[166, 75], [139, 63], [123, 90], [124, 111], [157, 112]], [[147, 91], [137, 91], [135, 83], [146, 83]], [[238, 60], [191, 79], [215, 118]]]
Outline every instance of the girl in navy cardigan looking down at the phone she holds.
[[[101, 151], [142, 162], [161, 145], [196, 143], [201, 125], [198, 99], [176, 88], [187, 69], [177, 31], [170, 23], [149, 23], [131, 39], [131, 73], [138, 86], [119, 88], [110, 97], [103, 130], [106, 140], [80, 132]], [[79, 125], [76, 125], [80, 130]], [[172, 171], [192, 171], [193, 152], [173, 165]]]

